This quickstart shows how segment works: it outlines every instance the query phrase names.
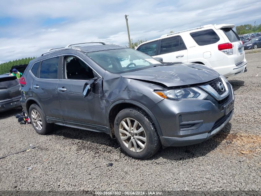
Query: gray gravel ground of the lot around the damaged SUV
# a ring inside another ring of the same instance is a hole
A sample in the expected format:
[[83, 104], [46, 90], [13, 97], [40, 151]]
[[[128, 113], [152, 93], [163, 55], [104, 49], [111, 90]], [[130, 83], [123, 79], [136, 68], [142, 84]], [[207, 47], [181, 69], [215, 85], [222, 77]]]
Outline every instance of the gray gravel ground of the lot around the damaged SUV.
[[17, 122], [21, 109], [0, 114], [0, 156], [37, 148], [0, 159], [0, 190], [261, 190], [261, 52], [246, 59], [248, 71], [229, 78], [229, 124], [206, 142], [148, 160], [128, 157], [104, 133], [55, 126], [42, 136]]

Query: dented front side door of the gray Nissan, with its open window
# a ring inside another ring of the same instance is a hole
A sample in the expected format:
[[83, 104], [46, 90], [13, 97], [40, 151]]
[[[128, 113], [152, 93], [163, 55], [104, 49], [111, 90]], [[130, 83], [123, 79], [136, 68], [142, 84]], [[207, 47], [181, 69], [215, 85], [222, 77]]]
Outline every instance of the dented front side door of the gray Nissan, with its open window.
[[[102, 78], [77, 56], [64, 56], [63, 70], [63, 79], [58, 81], [57, 87], [65, 124], [106, 126]], [[85, 97], [83, 90], [91, 79], [95, 82]]]

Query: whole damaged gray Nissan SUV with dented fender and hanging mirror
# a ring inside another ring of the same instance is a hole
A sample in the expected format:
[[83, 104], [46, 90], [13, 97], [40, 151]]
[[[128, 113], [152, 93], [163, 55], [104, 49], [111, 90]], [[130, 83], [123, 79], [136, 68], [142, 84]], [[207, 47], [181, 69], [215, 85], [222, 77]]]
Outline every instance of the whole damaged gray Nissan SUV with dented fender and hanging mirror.
[[84, 44], [50, 49], [20, 79], [20, 101], [37, 133], [53, 124], [104, 132], [129, 156], [147, 159], [161, 146], [213, 137], [233, 115], [233, 88], [211, 68]]

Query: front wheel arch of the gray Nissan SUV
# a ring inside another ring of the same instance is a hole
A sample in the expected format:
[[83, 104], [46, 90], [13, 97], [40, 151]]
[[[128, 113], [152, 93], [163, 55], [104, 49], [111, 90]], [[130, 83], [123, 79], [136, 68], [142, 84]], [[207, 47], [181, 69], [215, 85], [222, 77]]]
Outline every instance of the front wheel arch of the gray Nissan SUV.
[[128, 107], [139, 107], [143, 111], [145, 111], [149, 117], [151, 118], [152, 122], [154, 123], [156, 130], [158, 132], [159, 136], [162, 136], [162, 131], [159, 126], [159, 123], [153, 113], [144, 105], [142, 105], [139, 102], [133, 101], [133, 100], [128, 100], [128, 99], [122, 99], [118, 100], [109, 107], [108, 109], [108, 114], [107, 114], [107, 119], [108, 119], [108, 127], [110, 129], [109, 133], [112, 138], [114, 138], [114, 120], [116, 118], [116, 115], [123, 109], [128, 108]]

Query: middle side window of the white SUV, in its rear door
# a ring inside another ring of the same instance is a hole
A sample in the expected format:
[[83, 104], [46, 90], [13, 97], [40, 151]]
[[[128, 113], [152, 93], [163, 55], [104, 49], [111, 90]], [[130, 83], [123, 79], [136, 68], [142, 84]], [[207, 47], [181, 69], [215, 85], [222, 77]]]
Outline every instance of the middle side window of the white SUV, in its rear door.
[[160, 46], [160, 54], [186, 50], [186, 47], [180, 36], [163, 39]]

